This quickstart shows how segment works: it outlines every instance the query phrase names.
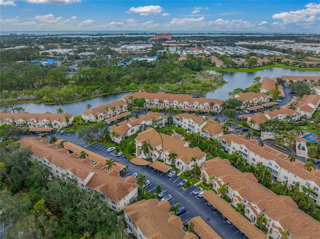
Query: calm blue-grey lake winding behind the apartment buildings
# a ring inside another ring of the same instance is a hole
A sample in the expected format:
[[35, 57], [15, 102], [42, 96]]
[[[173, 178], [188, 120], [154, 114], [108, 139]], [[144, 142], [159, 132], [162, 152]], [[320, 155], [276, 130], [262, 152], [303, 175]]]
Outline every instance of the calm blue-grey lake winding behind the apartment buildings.
[[[215, 71], [208, 71], [214, 73]], [[223, 85], [221, 88], [208, 92], [205, 97], [212, 99], [226, 100], [228, 98], [228, 92], [233, 91], [236, 88], [245, 89], [249, 85], [253, 84], [253, 78], [260, 76], [261, 80], [263, 77], [268, 76], [270, 78], [279, 77], [281, 75], [295, 75], [295, 76], [320, 76], [320, 72], [316, 71], [302, 71], [302, 70], [290, 70], [284, 68], [271, 68], [257, 72], [223, 72], [223, 78], [228, 83]], [[99, 104], [106, 104], [113, 100], [120, 100], [126, 93], [115, 93], [110, 95], [99, 96], [92, 99], [86, 99], [82, 101], [67, 103], [67, 104], [56, 104], [56, 105], [45, 105], [45, 104], [33, 104], [33, 103], [22, 103], [19, 104], [26, 112], [29, 113], [44, 113], [46, 111], [56, 113], [58, 108], [61, 108], [63, 112], [67, 112], [73, 115], [81, 115], [81, 112], [85, 110], [86, 104], [91, 104], [92, 107], [97, 107]], [[3, 106], [0, 106], [0, 110], [3, 110]]]

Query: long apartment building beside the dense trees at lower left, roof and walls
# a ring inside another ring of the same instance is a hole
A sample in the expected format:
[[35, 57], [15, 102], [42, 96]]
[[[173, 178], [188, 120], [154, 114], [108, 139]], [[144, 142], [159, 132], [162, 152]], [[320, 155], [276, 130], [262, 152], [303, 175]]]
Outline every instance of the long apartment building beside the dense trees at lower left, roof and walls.
[[31, 160], [47, 167], [52, 177], [63, 181], [76, 179], [79, 188], [93, 190], [110, 209], [119, 212], [137, 197], [136, 179], [132, 176], [125, 179], [119, 177], [119, 171], [124, 165], [115, 163], [108, 170], [104, 166], [106, 158], [85, 151], [87, 155], [81, 159], [83, 148], [68, 142], [61, 148], [58, 146], [60, 141], [49, 144], [39, 136], [24, 138], [18, 142], [21, 147], [32, 150]]

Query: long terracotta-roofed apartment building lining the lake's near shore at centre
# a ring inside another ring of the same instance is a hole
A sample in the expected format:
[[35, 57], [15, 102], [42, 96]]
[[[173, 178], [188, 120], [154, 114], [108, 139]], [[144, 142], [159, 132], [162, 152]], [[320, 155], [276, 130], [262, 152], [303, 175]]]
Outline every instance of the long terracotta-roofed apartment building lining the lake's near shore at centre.
[[183, 111], [194, 112], [201, 110], [202, 112], [222, 111], [223, 101], [219, 99], [206, 98], [192, 98], [191, 95], [183, 94], [166, 94], [166, 93], [148, 93], [148, 92], [134, 92], [123, 96], [123, 101], [132, 103], [132, 99], [136, 97], [145, 98], [145, 106], [152, 108], [157, 106], [159, 109], [164, 107], [180, 107]]

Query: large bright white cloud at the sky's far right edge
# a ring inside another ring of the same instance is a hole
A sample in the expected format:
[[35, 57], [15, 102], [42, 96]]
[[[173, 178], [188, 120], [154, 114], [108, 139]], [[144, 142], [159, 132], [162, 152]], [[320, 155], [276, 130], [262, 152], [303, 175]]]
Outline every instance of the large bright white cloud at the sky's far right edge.
[[318, 19], [316, 15], [320, 15], [320, 3], [308, 3], [305, 9], [296, 11], [285, 11], [272, 15], [273, 19], [282, 20], [284, 24], [296, 23], [301, 21], [315, 21]]

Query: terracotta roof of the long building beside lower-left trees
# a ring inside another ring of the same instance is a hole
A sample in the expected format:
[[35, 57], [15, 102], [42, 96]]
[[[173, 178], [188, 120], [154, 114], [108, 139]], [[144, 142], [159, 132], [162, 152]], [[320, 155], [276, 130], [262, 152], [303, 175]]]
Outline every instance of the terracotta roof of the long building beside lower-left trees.
[[[79, 155], [83, 151], [83, 148], [67, 142], [64, 143], [64, 149], [58, 149], [57, 144], [61, 140], [55, 142], [55, 144], [48, 145], [47, 140], [40, 141], [40, 139], [41, 137], [28, 137], [18, 142], [22, 147], [30, 148], [35, 155], [46, 158], [52, 165], [63, 170], [69, 170], [80, 179], [89, 180], [85, 185], [87, 188], [99, 189], [107, 198], [114, 202], [119, 202], [137, 187], [135, 179], [134, 182], [131, 182], [128, 179], [118, 177], [118, 171], [124, 168], [124, 165], [120, 163], [115, 162], [116, 166], [113, 166], [112, 170], [106, 171], [104, 166], [106, 158], [98, 154], [85, 151], [88, 157], [81, 160], [78, 157], [74, 157], [74, 153]], [[69, 154], [69, 150], [74, 153]], [[93, 165], [92, 161], [97, 164]]]

